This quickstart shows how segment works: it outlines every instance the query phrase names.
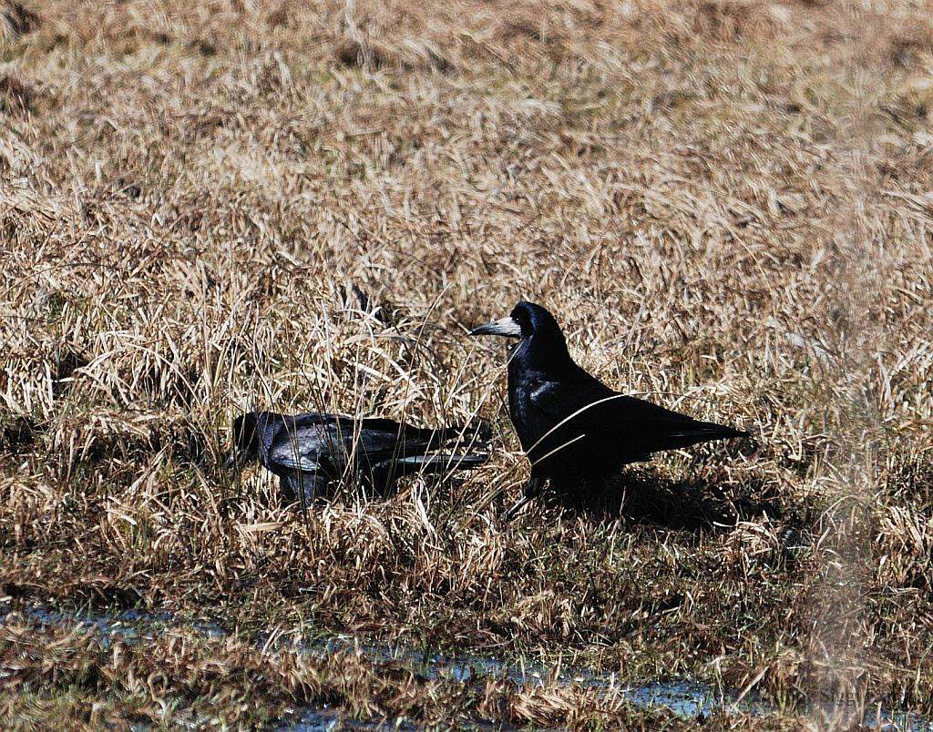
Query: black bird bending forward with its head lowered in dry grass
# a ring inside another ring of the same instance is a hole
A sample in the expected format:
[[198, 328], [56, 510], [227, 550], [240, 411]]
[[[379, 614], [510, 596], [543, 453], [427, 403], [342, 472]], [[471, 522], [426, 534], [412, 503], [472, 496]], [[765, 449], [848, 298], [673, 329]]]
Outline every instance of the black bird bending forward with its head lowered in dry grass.
[[480, 429], [430, 430], [380, 418], [246, 412], [233, 421], [234, 455], [228, 466], [258, 460], [279, 477], [285, 501], [299, 501], [303, 508], [342, 476], [383, 491], [402, 476], [479, 467], [488, 455], [434, 450], [452, 442], [468, 449], [479, 440]]

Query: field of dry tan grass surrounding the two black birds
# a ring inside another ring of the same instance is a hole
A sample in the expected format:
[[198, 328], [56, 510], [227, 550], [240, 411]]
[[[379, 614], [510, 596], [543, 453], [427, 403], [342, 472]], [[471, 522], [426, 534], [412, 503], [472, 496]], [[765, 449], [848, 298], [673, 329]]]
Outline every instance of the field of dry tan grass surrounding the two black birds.
[[[0, 602], [560, 653], [784, 710], [717, 725], [933, 714], [928, 3], [3, 8]], [[466, 328], [522, 297], [612, 386], [755, 440], [634, 470], [621, 511], [503, 524], [527, 464], [504, 352]], [[303, 523], [220, 470], [245, 408], [479, 413], [494, 459]], [[687, 724], [235, 638], [118, 657], [10, 618], [0, 709], [24, 726], [322, 698]]]

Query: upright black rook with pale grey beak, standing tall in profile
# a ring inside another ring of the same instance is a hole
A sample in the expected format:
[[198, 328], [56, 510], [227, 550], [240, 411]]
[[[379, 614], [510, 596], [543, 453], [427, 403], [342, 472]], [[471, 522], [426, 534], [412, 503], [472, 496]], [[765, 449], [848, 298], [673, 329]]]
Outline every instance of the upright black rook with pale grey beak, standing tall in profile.
[[520, 302], [508, 317], [470, 335], [519, 338], [508, 350], [508, 413], [531, 463], [531, 479], [507, 519], [546, 480], [572, 493], [622, 465], [648, 460], [652, 452], [748, 434], [612, 391], [574, 363], [560, 326], [540, 305]]

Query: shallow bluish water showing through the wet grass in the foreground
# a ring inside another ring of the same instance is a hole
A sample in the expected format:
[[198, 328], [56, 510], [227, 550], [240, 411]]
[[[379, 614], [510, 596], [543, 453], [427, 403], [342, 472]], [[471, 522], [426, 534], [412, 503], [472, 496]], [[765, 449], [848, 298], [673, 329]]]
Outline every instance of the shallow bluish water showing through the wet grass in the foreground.
[[[6, 611], [8, 612], [8, 611]], [[5, 611], [0, 610], [0, 624]], [[223, 638], [229, 633], [213, 623], [180, 621], [171, 613], [126, 611], [114, 615], [83, 612], [63, 613], [48, 608], [31, 608], [23, 613], [44, 625], [78, 625], [96, 632], [106, 645], [113, 639], [143, 642], [155, 637], [166, 627], [191, 628], [206, 638]], [[260, 634], [255, 642], [261, 647], [292, 650], [313, 656], [326, 657], [338, 652], [350, 652], [374, 662], [392, 662], [402, 665], [421, 676], [434, 679], [440, 676], [470, 684], [485, 678], [507, 679], [516, 685], [579, 684], [612, 690], [643, 709], [663, 708], [685, 718], [706, 716], [716, 711], [744, 711], [764, 714], [770, 708], [752, 696], [738, 699], [734, 693], [721, 693], [712, 686], [693, 682], [649, 682], [646, 684], [619, 684], [614, 675], [603, 675], [585, 669], [555, 669], [540, 664], [514, 665], [495, 658], [481, 656], [447, 656], [418, 653], [411, 648], [361, 643], [352, 637], [335, 636], [322, 640], [292, 642], [279, 639], [270, 642], [270, 634]], [[828, 708], [829, 709], [829, 708]], [[875, 729], [905, 730], [905, 732], [933, 732], [933, 721], [900, 711], [871, 712], [864, 725]], [[360, 721], [344, 718], [339, 711], [328, 709], [298, 709], [288, 720], [276, 727], [280, 730], [379, 729], [415, 730], [419, 727], [397, 720]], [[467, 723], [466, 728], [500, 729], [496, 725]]]

